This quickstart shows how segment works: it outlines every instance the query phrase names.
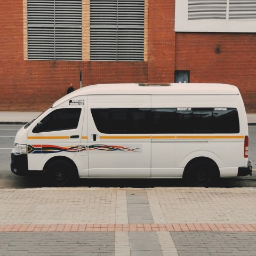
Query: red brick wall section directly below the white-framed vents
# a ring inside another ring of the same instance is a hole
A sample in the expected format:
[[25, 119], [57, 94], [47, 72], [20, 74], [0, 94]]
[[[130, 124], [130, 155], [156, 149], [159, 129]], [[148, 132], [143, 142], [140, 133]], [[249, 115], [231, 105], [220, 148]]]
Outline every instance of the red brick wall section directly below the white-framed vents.
[[255, 49], [256, 34], [177, 33], [175, 69], [190, 70], [190, 83], [236, 85], [255, 113]]

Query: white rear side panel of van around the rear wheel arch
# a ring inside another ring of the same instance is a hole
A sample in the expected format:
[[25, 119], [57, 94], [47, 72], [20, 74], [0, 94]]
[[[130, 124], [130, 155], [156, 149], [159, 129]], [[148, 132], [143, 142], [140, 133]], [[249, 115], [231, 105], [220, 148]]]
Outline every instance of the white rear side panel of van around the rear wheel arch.
[[[240, 111], [239, 134], [248, 134], [246, 114], [244, 112], [241, 95], [152, 95], [152, 108], [184, 108], [193, 106], [206, 107], [235, 107]], [[239, 134], [233, 134], [239, 136]], [[161, 134], [154, 134], [154, 137]], [[163, 135], [163, 134], [162, 134]], [[194, 158], [201, 156], [212, 159], [219, 167], [223, 166], [246, 166], [247, 159], [243, 155], [244, 138], [233, 139], [217, 138], [205, 134], [164, 134], [169, 139], [163, 139], [158, 143], [152, 140], [151, 173], [152, 177], [182, 178], [186, 165]], [[196, 135], [196, 136], [195, 136]], [[202, 137], [198, 138], [198, 137]], [[231, 135], [231, 134], [230, 134]], [[172, 137], [172, 138], [171, 138]], [[175, 139], [173, 138], [175, 137]], [[227, 134], [218, 134], [218, 137], [227, 137]], [[242, 136], [243, 137], [243, 136]], [[165, 143], [162, 143], [165, 142]], [[204, 150], [202, 150], [202, 148]], [[232, 150], [230, 150], [232, 148]], [[233, 150], [234, 149], [234, 150]], [[156, 168], [158, 166], [158, 168]], [[233, 177], [237, 175], [237, 167], [231, 167], [231, 171], [225, 169], [220, 173], [221, 177]], [[235, 173], [235, 174], [234, 174]], [[159, 175], [160, 174], [160, 175]]]

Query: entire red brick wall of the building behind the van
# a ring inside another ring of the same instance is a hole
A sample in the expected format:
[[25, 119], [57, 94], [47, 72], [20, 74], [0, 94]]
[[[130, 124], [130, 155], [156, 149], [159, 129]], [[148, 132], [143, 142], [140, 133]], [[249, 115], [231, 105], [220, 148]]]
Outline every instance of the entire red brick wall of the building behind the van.
[[97, 83], [174, 82], [174, 70], [190, 70], [190, 82], [230, 83], [256, 112], [256, 34], [176, 33], [174, 0], [149, 0], [148, 61], [26, 61], [23, 1], [1, 3], [0, 111], [41, 111], [66, 94]]

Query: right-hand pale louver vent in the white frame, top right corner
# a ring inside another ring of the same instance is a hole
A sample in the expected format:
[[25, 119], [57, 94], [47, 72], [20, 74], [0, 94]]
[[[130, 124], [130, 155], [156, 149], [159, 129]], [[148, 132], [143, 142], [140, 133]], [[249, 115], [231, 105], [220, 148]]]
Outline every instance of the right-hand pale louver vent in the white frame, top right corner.
[[256, 20], [256, 1], [229, 0], [229, 20]]

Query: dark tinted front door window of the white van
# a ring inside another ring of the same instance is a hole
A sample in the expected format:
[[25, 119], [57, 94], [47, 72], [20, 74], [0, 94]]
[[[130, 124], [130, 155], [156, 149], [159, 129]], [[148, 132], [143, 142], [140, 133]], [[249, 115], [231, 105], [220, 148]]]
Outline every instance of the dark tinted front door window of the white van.
[[[52, 111], [41, 121], [42, 131], [61, 131], [76, 129], [81, 115], [81, 108], [60, 108]], [[34, 128], [33, 132], [36, 132]]]

